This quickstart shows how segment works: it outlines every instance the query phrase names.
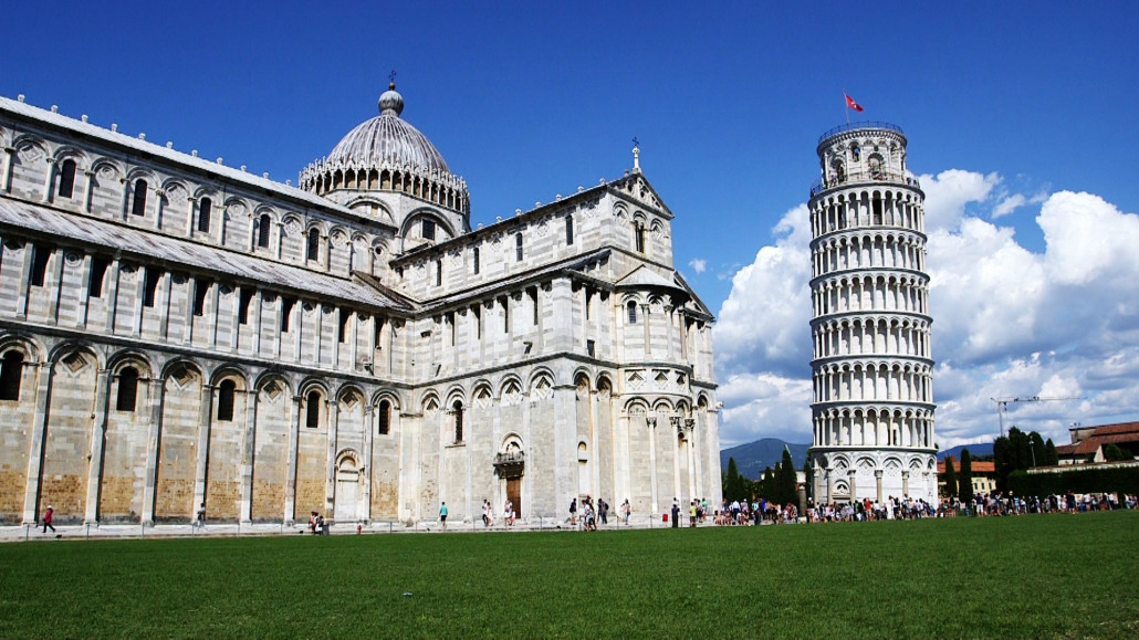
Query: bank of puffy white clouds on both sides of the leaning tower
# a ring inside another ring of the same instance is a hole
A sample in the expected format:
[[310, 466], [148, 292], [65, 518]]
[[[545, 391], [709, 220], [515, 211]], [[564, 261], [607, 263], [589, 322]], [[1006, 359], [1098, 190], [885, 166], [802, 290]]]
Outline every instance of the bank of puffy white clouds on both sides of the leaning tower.
[[[991, 441], [992, 397], [1011, 425], [1058, 444], [1072, 422], [1139, 416], [1139, 216], [1091, 194], [997, 194], [1001, 178], [944, 171], [920, 178], [934, 317], [934, 394], [942, 448]], [[995, 202], [994, 206], [991, 206]], [[1041, 204], [1040, 253], [993, 220]], [[991, 206], [991, 220], [984, 220]], [[810, 229], [788, 211], [773, 245], [732, 277], [713, 338], [724, 446], [776, 436], [810, 442]]]

